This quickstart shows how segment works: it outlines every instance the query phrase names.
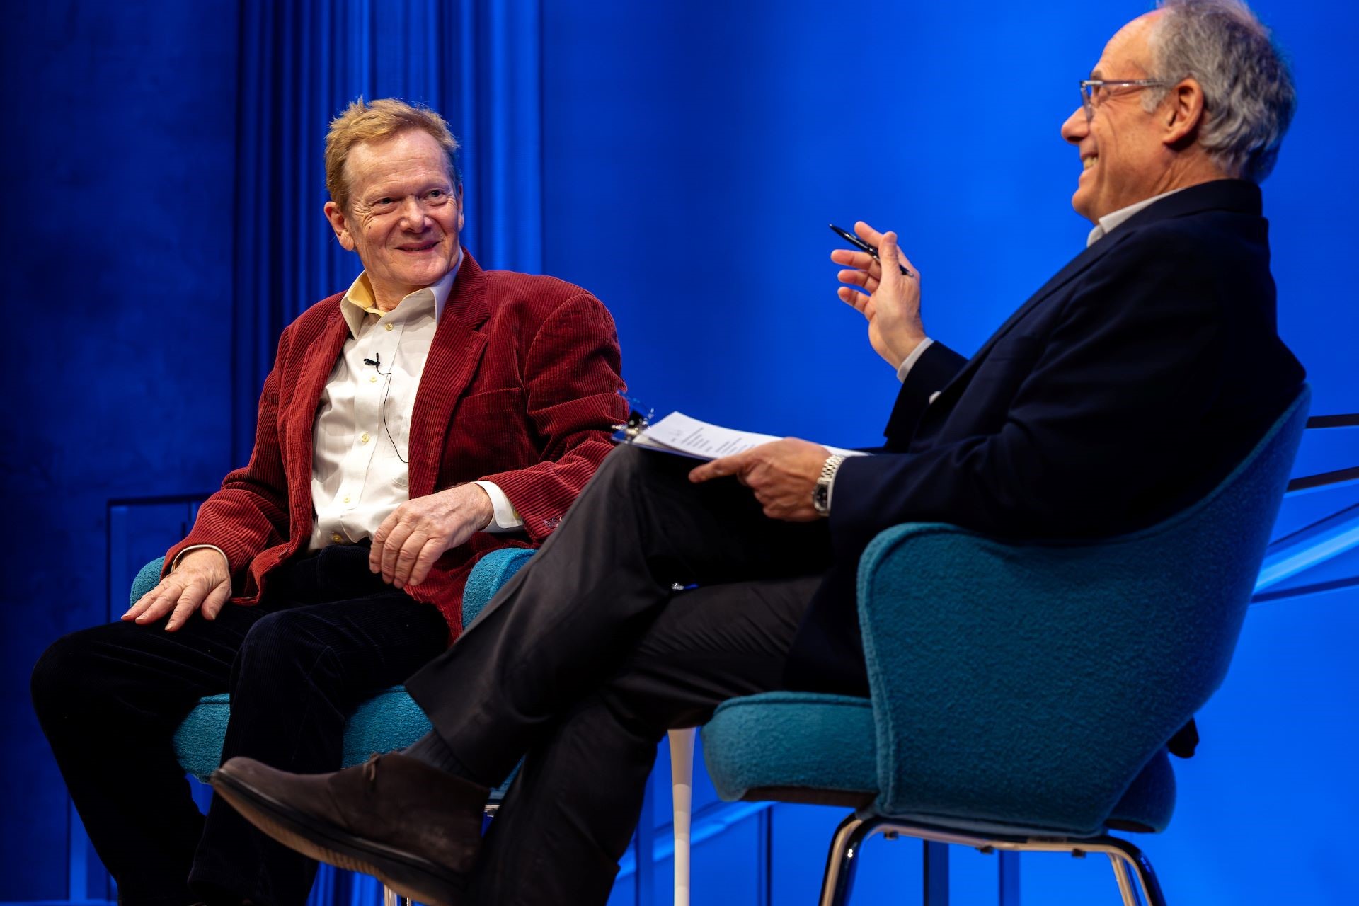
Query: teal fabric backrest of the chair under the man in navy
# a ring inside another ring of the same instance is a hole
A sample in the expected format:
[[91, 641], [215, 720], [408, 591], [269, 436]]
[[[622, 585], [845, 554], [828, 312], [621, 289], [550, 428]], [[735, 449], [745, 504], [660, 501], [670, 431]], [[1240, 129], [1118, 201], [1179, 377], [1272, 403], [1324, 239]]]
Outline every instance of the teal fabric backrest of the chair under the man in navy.
[[878, 810], [1098, 833], [1226, 675], [1309, 398], [1210, 494], [1144, 531], [878, 535], [859, 572]]

